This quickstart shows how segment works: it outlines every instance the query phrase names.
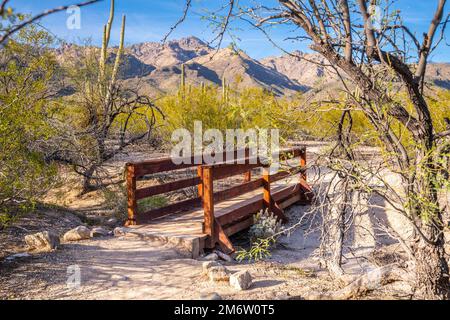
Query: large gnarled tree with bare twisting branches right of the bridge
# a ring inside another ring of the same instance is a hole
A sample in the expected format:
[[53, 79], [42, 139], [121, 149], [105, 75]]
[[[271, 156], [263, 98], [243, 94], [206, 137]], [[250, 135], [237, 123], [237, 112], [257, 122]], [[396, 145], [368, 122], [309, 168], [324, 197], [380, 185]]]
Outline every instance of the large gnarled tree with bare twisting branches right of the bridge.
[[[433, 118], [425, 96], [430, 55], [443, 43], [449, 22], [447, 1], [427, 2], [435, 6], [435, 12], [423, 37], [408, 28], [390, 0], [278, 0], [272, 5], [266, 1], [251, 5], [218, 2], [221, 9], [210, 20], [216, 18], [219, 44], [233, 20], [248, 22], [276, 45], [280, 44], [270, 38], [270, 28], [283, 25], [292, 28], [287, 30], [290, 40], [309, 43], [335, 69], [346, 96], [341, 133], [346, 135], [351, 114], [361, 112], [384, 151], [385, 171], [395, 172], [401, 184], [394, 186], [381, 170], [374, 172], [354, 161], [347, 139], [340, 142], [350, 151], [346, 160], [331, 168], [339, 171], [345, 185], [380, 195], [407, 218], [414, 235], [403, 240], [414, 257], [417, 296], [448, 299], [446, 197], [441, 193], [448, 192], [449, 168], [444, 159], [449, 153], [450, 131], [438, 125], [444, 119]], [[183, 18], [191, 5], [186, 2]]]

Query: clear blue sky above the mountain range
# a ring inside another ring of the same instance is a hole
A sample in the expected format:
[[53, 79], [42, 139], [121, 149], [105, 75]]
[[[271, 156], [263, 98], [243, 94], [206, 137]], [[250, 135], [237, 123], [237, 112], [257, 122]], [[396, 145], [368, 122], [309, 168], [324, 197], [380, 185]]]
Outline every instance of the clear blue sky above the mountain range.
[[[78, 0], [79, 1], [79, 0]], [[241, 3], [255, 0], [241, 0]], [[37, 13], [50, 7], [64, 4], [72, 4], [77, 0], [11, 0], [11, 6], [23, 13]], [[275, 0], [260, 0], [264, 4], [273, 4]], [[188, 19], [183, 23], [171, 38], [185, 36], [197, 36], [202, 40], [211, 40], [213, 35], [209, 23], [201, 19], [204, 9], [216, 9], [221, 0], [193, 0], [194, 6]], [[405, 24], [418, 34], [427, 30], [433, 17], [437, 0], [397, 0], [395, 8], [403, 12]], [[184, 7], [184, 0], [116, 0], [116, 20], [113, 27], [112, 43], [117, 44], [120, 28], [120, 16], [127, 15], [126, 42], [133, 44], [145, 41], [161, 41], [170, 27], [180, 17]], [[69, 30], [66, 27], [68, 14], [61, 12], [49, 16], [42, 21], [42, 25], [48, 28], [59, 38], [69, 42], [80, 42], [91, 39], [94, 44], [101, 42], [103, 24], [108, 18], [109, 0], [94, 4], [81, 10], [81, 29]], [[447, 4], [446, 14], [450, 4]], [[279, 55], [282, 52], [271, 45], [266, 37], [258, 30], [253, 30], [250, 25], [237, 23], [233, 25], [233, 35], [237, 36], [239, 48], [245, 50], [254, 58], [263, 58], [269, 55]], [[450, 44], [450, 29], [446, 32], [447, 43]], [[282, 44], [286, 50], [307, 51], [307, 43], [283, 42], [287, 33], [283, 27], [274, 28], [271, 31], [274, 40]], [[228, 45], [231, 37], [227, 35], [224, 46]], [[440, 49], [431, 57], [436, 62], [450, 62], [450, 47], [442, 43]]]

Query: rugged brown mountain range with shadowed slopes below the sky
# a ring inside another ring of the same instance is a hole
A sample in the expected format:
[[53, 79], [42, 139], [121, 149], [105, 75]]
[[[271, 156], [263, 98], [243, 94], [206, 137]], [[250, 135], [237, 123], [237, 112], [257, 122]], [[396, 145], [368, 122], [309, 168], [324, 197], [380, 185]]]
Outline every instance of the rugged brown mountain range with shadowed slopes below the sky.
[[[59, 56], [77, 55], [68, 45], [58, 50]], [[110, 59], [114, 58], [111, 54]], [[277, 95], [293, 95], [318, 87], [332, 88], [338, 79], [326, 61], [314, 53], [299, 51], [256, 60], [233, 48], [216, 50], [196, 37], [168, 41], [164, 44], [145, 42], [127, 47], [121, 77], [139, 82], [151, 95], [175, 91], [180, 84], [181, 66], [185, 65], [186, 82], [220, 86], [225, 78], [237, 89], [261, 87]], [[427, 81], [450, 89], [450, 64], [432, 63]]]

